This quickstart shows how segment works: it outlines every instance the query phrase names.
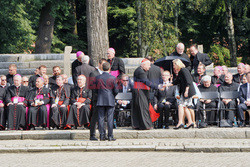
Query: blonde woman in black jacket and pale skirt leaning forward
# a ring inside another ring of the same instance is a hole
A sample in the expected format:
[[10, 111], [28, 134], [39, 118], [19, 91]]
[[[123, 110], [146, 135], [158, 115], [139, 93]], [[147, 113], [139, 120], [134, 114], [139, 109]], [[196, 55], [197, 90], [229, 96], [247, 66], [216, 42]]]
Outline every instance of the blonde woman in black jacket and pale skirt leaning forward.
[[180, 100], [178, 104], [179, 122], [176, 127], [174, 127], [174, 129], [179, 129], [184, 126], [184, 114], [188, 120], [188, 124], [185, 129], [188, 129], [190, 127], [194, 127], [194, 123], [192, 122], [191, 117], [192, 111], [190, 110], [190, 108], [193, 105], [192, 97], [195, 95], [195, 88], [189, 70], [185, 68], [185, 65], [180, 59], [173, 60], [173, 68], [174, 71], [178, 72], [178, 76], [174, 80], [173, 84], [179, 85], [180, 91]]

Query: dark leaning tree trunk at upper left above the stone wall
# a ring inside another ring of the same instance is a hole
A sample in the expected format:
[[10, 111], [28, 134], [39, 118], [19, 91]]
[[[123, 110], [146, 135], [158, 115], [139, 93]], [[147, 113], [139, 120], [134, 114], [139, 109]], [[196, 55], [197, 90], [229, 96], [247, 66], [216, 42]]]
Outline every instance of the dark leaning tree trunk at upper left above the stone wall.
[[55, 22], [55, 18], [50, 15], [50, 12], [51, 3], [47, 2], [41, 10], [39, 19], [36, 53], [50, 53]]

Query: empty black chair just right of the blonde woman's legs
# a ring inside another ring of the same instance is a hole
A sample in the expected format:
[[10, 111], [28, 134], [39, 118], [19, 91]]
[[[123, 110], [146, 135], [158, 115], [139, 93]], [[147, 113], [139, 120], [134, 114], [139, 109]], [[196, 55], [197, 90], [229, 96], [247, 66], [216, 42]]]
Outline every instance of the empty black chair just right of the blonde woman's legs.
[[[203, 107], [202, 107], [202, 111], [203, 111], [203, 119], [204, 122], [206, 122], [206, 111], [215, 111], [216, 112], [216, 118], [218, 117], [219, 114], [219, 108], [220, 108], [220, 103], [219, 103], [219, 99], [220, 99], [220, 95], [219, 92], [201, 92], [201, 97], [200, 99], [210, 99], [210, 100], [216, 100], [216, 108], [206, 108], [205, 107], [205, 103], [203, 103]], [[216, 119], [217, 120], [217, 119]], [[218, 121], [216, 121], [218, 123]]]

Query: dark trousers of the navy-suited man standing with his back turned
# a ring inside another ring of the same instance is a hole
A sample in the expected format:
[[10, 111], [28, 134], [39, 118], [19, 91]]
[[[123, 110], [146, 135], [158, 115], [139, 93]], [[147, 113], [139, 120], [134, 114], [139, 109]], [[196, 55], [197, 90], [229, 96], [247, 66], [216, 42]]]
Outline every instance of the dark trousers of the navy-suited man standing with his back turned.
[[113, 124], [114, 124], [114, 109], [113, 106], [98, 106], [98, 123], [100, 138], [105, 138], [105, 115], [107, 114], [108, 124], [108, 137], [113, 137]]

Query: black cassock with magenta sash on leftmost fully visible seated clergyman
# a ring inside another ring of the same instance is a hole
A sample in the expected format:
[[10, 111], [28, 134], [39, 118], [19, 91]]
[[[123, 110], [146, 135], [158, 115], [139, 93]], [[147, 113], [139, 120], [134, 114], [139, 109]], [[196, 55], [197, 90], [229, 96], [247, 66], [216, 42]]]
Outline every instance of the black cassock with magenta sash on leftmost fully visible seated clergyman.
[[[19, 128], [26, 128], [26, 107], [27, 107], [27, 96], [29, 88], [26, 86], [15, 85], [8, 87], [6, 95], [6, 104], [10, 104], [7, 107], [8, 112], [8, 128], [11, 130], [17, 130]], [[18, 103], [23, 104], [18, 104]]]

